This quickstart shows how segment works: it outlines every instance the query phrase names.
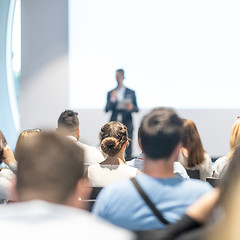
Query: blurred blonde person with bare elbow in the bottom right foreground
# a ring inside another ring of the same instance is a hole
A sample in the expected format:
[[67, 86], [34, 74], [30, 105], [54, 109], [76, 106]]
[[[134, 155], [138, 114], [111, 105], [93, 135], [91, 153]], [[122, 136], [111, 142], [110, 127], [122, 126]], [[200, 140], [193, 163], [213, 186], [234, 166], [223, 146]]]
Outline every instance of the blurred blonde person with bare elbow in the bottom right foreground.
[[[240, 146], [235, 147], [226, 174], [221, 179], [220, 191], [209, 192], [186, 212], [176, 224], [165, 231], [139, 232], [139, 240], [175, 239], [175, 240], [225, 240], [240, 239]], [[220, 194], [220, 201], [219, 200]], [[224, 214], [217, 222], [209, 224], [208, 220], [216, 204]], [[208, 224], [206, 224], [208, 223]], [[202, 226], [202, 227], [201, 227]], [[201, 227], [201, 228], [200, 228]]]

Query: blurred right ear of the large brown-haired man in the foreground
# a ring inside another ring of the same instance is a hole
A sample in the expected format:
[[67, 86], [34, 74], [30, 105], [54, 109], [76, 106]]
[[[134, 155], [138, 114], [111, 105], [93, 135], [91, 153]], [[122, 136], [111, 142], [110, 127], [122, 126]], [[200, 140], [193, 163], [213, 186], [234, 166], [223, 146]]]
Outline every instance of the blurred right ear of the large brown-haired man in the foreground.
[[88, 179], [87, 178], [80, 179], [73, 193], [71, 206], [81, 209], [87, 209], [88, 202], [85, 202], [84, 200], [90, 198], [91, 191], [92, 188], [89, 186]]

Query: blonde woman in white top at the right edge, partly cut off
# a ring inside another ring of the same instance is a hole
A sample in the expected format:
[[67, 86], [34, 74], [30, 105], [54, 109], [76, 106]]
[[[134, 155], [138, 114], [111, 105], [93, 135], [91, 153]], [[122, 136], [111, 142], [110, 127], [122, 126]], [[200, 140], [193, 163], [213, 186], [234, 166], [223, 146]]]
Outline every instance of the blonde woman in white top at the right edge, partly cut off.
[[234, 123], [230, 136], [230, 152], [217, 159], [212, 167], [212, 177], [222, 178], [232, 159], [236, 146], [240, 143], [240, 119]]

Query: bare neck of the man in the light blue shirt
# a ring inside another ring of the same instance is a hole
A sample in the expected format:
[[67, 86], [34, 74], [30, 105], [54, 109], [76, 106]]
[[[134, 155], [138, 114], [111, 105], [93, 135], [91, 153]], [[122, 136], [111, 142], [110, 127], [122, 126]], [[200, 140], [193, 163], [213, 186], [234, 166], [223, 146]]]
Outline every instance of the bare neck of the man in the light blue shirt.
[[173, 163], [171, 159], [157, 159], [151, 160], [145, 157], [144, 173], [154, 178], [172, 178]]

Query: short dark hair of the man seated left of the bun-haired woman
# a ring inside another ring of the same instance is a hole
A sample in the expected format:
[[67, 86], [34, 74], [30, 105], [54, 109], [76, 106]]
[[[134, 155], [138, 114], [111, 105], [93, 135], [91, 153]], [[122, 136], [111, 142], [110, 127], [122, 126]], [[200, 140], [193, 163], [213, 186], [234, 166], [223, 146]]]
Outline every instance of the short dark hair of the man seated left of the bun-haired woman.
[[78, 113], [72, 110], [65, 110], [58, 118], [58, 128], [75, 131], [79, 128]]

